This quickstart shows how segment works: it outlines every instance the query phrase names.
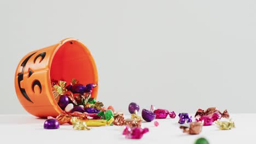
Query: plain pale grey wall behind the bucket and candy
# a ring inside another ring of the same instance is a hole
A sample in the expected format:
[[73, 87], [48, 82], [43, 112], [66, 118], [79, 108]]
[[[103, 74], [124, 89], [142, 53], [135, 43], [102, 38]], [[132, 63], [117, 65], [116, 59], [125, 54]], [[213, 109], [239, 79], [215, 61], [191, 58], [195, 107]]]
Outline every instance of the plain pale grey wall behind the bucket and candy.
[[0, 113], [26, 113], [20, 59], [68, 37], [89, 47], [98, 100], [117, 111], [256, 110], [255, 1], [1, 1], [0, 16]]

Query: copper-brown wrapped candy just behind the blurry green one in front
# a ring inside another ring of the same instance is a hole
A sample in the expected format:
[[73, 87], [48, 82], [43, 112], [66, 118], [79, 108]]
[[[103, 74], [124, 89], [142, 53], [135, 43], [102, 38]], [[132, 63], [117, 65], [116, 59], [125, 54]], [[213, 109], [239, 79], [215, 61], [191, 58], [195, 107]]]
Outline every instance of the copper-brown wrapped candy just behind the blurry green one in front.
[[202, 122], [191, 122], [185, 125], [181, 125], [179, 128], [183, 129], [183, 133], [188, 133], [190, 135], [200, 134], [202, 131]]

